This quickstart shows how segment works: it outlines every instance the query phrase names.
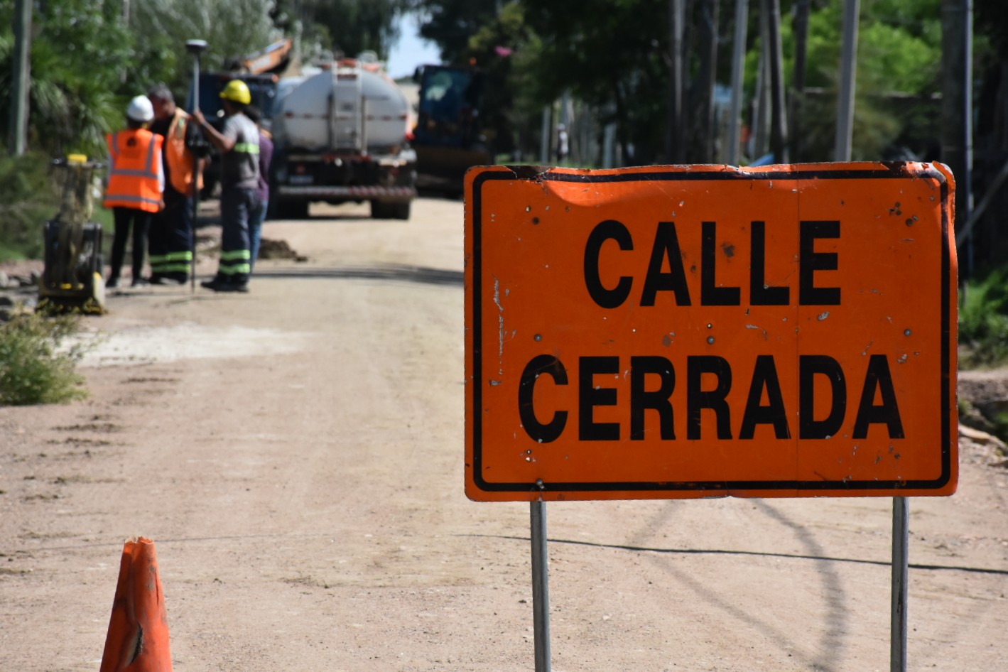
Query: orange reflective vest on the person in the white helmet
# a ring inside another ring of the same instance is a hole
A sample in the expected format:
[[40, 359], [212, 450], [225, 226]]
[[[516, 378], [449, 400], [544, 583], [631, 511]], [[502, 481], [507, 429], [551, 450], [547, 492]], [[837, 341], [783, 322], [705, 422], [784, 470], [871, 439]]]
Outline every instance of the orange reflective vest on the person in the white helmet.
[[132, 208], [148, 213], [160, 210], [161, 143], [146, 129], [110, 133], [109, 186], [106, 208]]

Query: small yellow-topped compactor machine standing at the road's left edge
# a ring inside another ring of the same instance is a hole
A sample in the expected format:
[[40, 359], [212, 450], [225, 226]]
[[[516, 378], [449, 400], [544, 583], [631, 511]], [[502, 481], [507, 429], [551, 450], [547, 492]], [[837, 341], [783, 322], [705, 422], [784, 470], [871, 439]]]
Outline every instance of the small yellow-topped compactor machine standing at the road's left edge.
[[59, 212], [42, 229], [45, 268], [38, 280], [40, 310], [105, 312], [102, 225], [91, 221], [103, 167], [82, 154], [53, 161]]

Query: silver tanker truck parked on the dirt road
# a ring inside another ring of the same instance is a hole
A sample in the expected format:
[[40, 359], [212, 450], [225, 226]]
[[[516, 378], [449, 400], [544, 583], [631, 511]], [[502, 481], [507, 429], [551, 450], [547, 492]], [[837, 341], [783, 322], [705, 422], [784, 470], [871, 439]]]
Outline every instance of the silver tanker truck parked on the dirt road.
[[410, 105], [374, 54], [284, 78], [273, 108], [269, 205], [278, 218], [308, 204], [369, 201], [376, 219], [408, 220], [416, 197]]

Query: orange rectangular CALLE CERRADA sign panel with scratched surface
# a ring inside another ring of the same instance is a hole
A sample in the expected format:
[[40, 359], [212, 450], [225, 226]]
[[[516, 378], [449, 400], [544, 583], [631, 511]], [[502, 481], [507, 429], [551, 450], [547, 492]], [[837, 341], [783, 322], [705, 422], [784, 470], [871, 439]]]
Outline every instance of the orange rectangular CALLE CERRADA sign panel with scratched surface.
[[466, 180], [466, 494], [951, 495], [941, 165]]

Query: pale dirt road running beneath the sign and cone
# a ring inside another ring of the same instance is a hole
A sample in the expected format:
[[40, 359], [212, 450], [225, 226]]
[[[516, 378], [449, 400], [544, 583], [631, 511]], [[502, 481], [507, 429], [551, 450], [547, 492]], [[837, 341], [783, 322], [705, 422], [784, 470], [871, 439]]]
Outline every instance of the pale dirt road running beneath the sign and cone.
[[[177, 672], [533, 669], [528, 507], [463, 494], [463, 206], [313, 212], [250, 294], [110, 296], [89, 400], [0, 409], [0, 670], [98, 670], [132, 535]], [[910, 501], [910, 669], [1008, 669], [1006, 485]], [[548, 526], [557, 672], [889, 669], [891, 500]]]

